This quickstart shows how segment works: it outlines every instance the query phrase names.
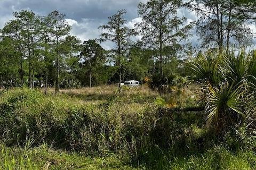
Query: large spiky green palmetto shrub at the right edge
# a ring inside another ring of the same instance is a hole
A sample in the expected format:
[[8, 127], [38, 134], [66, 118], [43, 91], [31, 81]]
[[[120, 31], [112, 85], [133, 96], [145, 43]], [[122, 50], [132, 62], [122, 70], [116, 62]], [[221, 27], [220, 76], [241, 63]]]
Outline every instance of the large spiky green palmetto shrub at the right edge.
[[[205, 84], [206, 119], [223, 132], [252, 120], [255, 111], [254, 87], [256, 53], [206, 53], [191, 63], [191, 77]], [[206, 81], [205, 81], [206, 80]]]

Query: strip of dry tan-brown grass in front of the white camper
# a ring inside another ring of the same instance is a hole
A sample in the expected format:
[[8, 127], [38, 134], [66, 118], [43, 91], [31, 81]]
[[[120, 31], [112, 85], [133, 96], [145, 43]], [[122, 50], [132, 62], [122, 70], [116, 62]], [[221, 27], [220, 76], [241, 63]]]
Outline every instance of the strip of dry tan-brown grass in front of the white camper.
[[[71, 99], [77, 99], [78, 103], [101, 103], [108, 99], [118, 98], [123, 103], [139, 103], [147, 104], [154, 103], [157, 97], [164, 98], [170, 107], [196, 107], [198, 106], [199, 86], [190, 84], [189, 86], [177, 88], [172, 87], [173, 91], [160, 95], [157, 91], [151, 90], [148, 86], [139, 87], [122, 87], [121, 93], [118, 92], [118, 87], [98, 86], [98, 87], [84, 87], [79, 89], [61, 89], [60, 95], [66, 95]], [[41, 89], [43, 91], [43, 89]], [[54, 94], [54, 88], [49, 89], [49, 94]], [[119, 100], [119, 101], [120, 101]], [[118, 102], [119, 103], [119, 102]]]

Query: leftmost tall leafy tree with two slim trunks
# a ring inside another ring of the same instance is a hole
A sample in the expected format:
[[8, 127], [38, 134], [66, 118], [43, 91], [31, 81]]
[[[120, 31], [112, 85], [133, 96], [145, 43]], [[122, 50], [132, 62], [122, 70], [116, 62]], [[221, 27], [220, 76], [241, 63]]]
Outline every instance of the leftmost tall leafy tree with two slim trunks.
[[33, 11], [22, 10], [14, 12], [14, 20], [5, 24], [3, 35], [15, 40], [13, 46], [19, 51], [20, 61], [20, 80], [23, 84], [25, 69], [23, 64], [28, 65], [28, 82], [30, 88], [34, 87], [35, 65], [38, 61], [35, 50], [38, 48], [38, 16]]

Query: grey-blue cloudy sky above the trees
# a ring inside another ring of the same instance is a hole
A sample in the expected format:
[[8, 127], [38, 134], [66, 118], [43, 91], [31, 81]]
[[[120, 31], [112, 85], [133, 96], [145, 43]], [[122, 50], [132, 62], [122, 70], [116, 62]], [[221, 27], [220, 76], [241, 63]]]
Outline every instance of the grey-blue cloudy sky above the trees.
[[[98, 38], [101, 30], [99, 25], [106, 24], [108, 16], [118, 10], [125, 9], [125, 18], [129, 26], [140, 19], [137, 14], [137, 4], [147, 0], [0, 0], [0, 28], [13, 18], [12, 12], [22, 9], [33, 10], [38, 15], [47, 15], [54, 10], [66, 14], [67, 21], [72, 25], [71, 34], [81, 40]], [[180, 10], [180, 16], [186, 16], [189, 21], [196, 16], [187, 10]], [[196, 38], [193, 38], [196, 41]], [[102, 44], [110, 48], [110, 43]]]

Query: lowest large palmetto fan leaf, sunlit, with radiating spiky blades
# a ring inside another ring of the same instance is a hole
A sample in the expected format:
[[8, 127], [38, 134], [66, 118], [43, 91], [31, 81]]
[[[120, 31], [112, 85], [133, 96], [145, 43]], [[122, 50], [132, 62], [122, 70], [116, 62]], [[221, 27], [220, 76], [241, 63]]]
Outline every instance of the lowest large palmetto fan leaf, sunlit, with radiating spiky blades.
[[206, 103], [206, 120], [209, 123], [218, 124], [220, 119], [225, 123], [234, 122], [235, 117], [242, 115], [242, 105], [244, 94], [243, 87], [234, 86], [234, 82], [221, 84], [219, 88], [208, 87], [209, 96]]

